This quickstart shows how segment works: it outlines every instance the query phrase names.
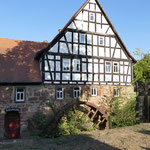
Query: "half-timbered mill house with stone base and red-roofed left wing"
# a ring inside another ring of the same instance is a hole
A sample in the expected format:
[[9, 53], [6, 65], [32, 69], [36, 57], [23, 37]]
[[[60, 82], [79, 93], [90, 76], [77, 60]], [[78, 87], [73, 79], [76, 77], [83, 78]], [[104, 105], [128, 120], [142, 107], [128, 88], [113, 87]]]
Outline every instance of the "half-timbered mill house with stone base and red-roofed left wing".
[[1, 131], [18, 137], [9, 125], [26, 124], [45, 89], [59, 107], [81, 97], [109, 109], [108, 98], [133, 89], [135, 62], [98, 0], [87, 0], [49, 44], [0, 39]]

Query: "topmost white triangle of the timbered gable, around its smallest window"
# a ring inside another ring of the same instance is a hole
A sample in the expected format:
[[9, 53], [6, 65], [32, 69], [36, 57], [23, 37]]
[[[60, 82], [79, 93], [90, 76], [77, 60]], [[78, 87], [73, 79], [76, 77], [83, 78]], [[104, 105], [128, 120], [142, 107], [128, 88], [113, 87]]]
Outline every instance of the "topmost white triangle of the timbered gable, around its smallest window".
[[[90, 20], [90, 15], [94, 17], [93, 21]], [[90, 31], [98, 34], [114, 35], [108, 21], [95, 0], [89, 1], [68, 28], [77, 28], [78, 30]]]

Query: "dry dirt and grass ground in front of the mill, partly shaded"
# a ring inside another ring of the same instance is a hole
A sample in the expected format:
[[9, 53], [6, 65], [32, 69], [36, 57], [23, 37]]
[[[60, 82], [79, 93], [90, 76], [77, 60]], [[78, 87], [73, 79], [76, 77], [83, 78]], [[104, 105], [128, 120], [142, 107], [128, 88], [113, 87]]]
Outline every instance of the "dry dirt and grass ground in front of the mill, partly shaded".
[[56, 139], [1, 141], [0, 150], [150, 150], [150, 123]]

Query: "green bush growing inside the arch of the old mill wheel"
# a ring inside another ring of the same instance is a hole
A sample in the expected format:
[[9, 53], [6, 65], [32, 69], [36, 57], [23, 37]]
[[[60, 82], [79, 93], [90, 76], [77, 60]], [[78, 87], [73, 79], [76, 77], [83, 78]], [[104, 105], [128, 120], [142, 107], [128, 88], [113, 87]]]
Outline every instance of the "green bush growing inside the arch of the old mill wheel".
[[94, 124], [79, 107], [67, 111], [59, 123], [59, 135], [79, 134], [81, 131], [94, 129]]

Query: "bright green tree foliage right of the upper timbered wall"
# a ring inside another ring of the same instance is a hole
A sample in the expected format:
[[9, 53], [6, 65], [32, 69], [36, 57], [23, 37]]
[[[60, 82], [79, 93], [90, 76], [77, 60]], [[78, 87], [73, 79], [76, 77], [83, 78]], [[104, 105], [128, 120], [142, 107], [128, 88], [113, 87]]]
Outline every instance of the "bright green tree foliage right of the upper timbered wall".
[[150, 80], [150, 54], [145, 54], [144, 58], [134, 65], [134, 82], [145, 83]]

